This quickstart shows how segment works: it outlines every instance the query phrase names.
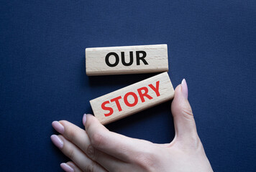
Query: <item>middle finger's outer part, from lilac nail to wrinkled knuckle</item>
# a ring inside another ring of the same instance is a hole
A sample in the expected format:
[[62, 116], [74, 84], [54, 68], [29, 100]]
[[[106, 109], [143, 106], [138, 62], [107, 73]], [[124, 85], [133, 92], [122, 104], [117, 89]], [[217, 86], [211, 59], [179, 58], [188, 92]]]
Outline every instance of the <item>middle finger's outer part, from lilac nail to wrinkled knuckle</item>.
[[86, 148], [91, 143], [85, 130], [66, 120], [54, 121], [52, 122], [52, 127], [86, 153]]

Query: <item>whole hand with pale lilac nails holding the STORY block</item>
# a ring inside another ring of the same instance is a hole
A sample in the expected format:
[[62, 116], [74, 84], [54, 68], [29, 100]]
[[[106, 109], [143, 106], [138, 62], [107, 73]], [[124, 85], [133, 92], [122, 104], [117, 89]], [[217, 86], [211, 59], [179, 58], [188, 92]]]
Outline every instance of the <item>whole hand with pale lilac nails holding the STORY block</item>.
[[163, 145], [113, 133], [93, 115], [83, 116], [86, 130], [65, 120], [53, 122], [60, 135], [52, 135], [52, 142], [71, 160], [60, 166], [76, 172], [212, 171], [196, 131], [186, 80], [176, 87], [171, 110], [175, 138]]

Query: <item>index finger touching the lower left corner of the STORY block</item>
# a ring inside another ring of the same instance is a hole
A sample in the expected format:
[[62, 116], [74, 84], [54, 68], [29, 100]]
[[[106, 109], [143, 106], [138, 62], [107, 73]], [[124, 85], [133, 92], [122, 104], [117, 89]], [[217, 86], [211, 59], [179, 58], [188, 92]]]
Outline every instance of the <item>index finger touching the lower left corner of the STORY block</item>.
[[84, 115], [83, 123], [94, 148], [125, 162], [133, 162], [137, 156], [148, 153], [154, 146], [146, 140], [110, 132], [93, 115]]

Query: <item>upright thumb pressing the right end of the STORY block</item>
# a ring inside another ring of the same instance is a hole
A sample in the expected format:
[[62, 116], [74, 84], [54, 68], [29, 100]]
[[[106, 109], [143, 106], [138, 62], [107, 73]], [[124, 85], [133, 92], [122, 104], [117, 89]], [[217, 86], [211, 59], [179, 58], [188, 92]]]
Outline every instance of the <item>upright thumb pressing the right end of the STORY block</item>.
[[175, 88], [171, 110], [175, 126], [175, 137], [179, 139], [186, 138], [186, 140], [190, 140], [187, 138], [197, 138], [196, 123], [191, 105], [188, 102], [188, 86], [185, 79]]

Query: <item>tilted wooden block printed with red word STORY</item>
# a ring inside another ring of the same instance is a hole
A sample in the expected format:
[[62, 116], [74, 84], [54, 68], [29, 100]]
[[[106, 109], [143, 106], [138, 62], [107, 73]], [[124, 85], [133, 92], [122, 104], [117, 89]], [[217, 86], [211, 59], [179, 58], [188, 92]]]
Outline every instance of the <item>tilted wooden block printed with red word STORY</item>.
[[167, 72], [142, 80], [90, 101], [96, 118], [107, 124], [172, 99]]

